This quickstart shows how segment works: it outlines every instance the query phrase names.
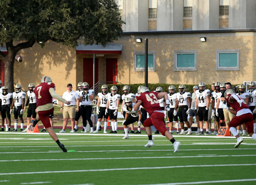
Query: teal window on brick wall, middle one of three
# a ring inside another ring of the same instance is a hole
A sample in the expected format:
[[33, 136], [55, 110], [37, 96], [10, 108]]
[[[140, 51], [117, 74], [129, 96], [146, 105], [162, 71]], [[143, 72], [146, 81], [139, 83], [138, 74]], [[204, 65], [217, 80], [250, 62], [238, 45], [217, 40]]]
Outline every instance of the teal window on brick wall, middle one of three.
[[197, 51], [174, 51], [174, 71], [197, 71]]

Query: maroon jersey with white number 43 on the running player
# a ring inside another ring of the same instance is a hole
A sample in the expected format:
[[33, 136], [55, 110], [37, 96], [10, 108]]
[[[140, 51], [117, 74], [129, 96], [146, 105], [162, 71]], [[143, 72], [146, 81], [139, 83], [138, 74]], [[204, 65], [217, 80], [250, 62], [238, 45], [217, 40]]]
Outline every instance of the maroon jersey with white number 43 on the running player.
[[154, 111], [162, 111], [158, 102], [157, 95], [158, 92], [155, 91], [143, 92], [136, 96], [136, 102], [141, 101], [141, 105], [148, 112], [148, 114], [151, 115]]

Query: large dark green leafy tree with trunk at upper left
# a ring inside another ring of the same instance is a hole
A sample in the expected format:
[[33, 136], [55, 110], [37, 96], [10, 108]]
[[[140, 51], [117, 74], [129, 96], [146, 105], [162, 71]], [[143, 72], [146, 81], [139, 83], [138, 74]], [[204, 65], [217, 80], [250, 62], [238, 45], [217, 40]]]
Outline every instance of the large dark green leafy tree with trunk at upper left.
[[84, 44], [106, 45], [120, 36], [123, 23], [114, 0], [1, 0], [0, 44], [8, 51], [0, 51], [5, 84], [13, 88], [14, 57], [21, 49], [36, 42], [43, 47], [48, 40], [76, 47], [80, 38]]

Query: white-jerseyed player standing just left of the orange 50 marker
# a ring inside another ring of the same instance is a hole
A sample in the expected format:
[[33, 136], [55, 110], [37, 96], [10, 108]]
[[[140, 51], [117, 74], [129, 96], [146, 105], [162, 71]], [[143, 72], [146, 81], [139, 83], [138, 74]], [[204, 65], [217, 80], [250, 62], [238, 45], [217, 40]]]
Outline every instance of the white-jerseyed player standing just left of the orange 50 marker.
[[[220, 124], [219, 124], [219, 121], [220, 121], [220, 117], [219, 117], [219, 112], [218, 112], [218, 108], [217, 107], [217, 101], [218, 101], [218, 98], [220, 98], [221, 96], [221, 92], [220, 92], [220, 82], [216, 82], [214, 84], [214, 88], [215, 88], [215, 92], [212, 92], [212, 116], [213, 116], [213, 119], [214, 119], [214, 122], [216, 125], [216, 127], [214, 126], [214, 132], [212, 133], [212, 135], [217, 135], [217, 131], [219, 131], [220, 129]], [[221, 111], [223, 112], [223, 110], [221, 109]]]

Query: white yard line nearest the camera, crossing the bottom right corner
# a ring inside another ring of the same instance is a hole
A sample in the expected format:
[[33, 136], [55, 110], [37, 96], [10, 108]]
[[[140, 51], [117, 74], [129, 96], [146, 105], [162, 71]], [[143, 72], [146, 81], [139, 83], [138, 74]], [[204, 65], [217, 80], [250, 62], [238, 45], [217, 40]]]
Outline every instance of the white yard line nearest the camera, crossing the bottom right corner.
[[183, 185], [183, 184], [208, 184], [208, 183], [245, 182], [245, 181], [256, 181], [256, 179], [213, 180], [213, 181], [176, 182], [176, 183], [161, 183], [161, 184], [140, 184], [140, 185]]

